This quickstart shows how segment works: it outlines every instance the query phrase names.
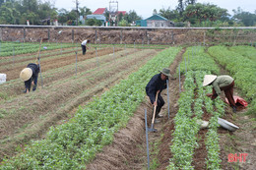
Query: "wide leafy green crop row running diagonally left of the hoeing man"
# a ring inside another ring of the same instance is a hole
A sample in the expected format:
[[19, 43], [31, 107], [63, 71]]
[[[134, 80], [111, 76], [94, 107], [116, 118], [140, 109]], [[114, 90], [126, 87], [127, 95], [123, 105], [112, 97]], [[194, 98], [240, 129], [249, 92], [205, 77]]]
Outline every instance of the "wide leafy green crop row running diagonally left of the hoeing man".
[[168, 67], [180, 48], [160, 52], [127, 80], [82, 107], [68, 123], [51, 128], [45, 140], [3, 162], [1, 169], [83, 169], [113, 134], [124, 127], [145, 98], [145, 85], [160, 68]]

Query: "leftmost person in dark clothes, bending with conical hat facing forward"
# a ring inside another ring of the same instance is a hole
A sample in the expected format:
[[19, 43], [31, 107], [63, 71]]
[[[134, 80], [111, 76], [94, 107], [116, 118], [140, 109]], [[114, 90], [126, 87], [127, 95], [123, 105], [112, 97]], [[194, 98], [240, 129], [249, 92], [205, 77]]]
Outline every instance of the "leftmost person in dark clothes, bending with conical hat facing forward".
[[22, 70], [20, 74], [20, 78], [25, 83], [25, 88], [26, 88], [24, 90], [25, 93], [29, 93], [31, 91], [32, 85], [33, 85], [32, 90], [34, 91], [36, 89], [38, 73], [39, 73], [39, 65], [34, 63], [30, 63], [27, 66], [27, 68]]

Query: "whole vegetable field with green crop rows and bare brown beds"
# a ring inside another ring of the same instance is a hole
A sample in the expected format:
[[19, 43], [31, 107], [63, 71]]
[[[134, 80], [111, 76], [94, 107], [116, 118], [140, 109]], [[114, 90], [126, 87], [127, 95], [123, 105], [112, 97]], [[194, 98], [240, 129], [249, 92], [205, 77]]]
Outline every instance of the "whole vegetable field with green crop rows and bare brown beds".
[[[151, 126], [152, 105], [145, 86], [162, 68], [173, 76], [162, 92], [159, 132], [149, 133], [150, 169], [256, 166], [254, 47], [91, 44], [82, 55], [78, 44], [43, 42], [38, 49], [1, 42], [7, 82], [0, 85], [0, 169], [147, 169], [144, 114], [147, 109]], [[25, 94], [19, 74], [37, 57], [38, 87]], [[206, 74], [233, 77], [248, 108], [232, 113], [224, 95], [207, 97]], [[218, 117], [240, 129], [228, 132]], [[198, 120], [209, 127], [200, 129]], [[230, 162], [230, 153], [248, 156]]]

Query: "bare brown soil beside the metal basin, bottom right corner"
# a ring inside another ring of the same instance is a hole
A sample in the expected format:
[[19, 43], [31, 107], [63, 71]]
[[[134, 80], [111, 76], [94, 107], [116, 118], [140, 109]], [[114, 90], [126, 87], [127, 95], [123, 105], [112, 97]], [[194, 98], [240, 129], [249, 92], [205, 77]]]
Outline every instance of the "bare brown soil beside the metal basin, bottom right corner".
[[[241, 96], [237, 88], [234, 88], [234, 95]], [[235, 132], [228, 132], [224, 128], [220, 128], [218, 131], [220, 135], [222, 168], [224, 170], [255, 170], [256, 123], [255, 117], [246, 114], [246, 112], [247, 109], [243, 109], [232, 113], [229, 107], [226, 108], [223, 118], [238, 126], [239, 129]], [[239, 162], [239, 159], [234, 160], [234, 154], [239, 156], [240, 153], [247, 154], [246, 157], [242, 156], [242, 158], [245, 158], [245, 161]], [[229, 162], [228, 155], [230, 154]]]

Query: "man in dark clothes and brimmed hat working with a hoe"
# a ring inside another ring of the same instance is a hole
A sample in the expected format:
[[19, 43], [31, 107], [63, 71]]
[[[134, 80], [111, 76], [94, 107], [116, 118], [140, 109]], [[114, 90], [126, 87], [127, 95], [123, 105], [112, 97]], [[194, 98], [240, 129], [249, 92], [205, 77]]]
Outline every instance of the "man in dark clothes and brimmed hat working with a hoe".
[[[157, 106], [156, 118], [162, 117], [160, 115], [160, 109], [164, 104], [164, 100], [160, 96], [160, 92], [162, 91], [162, 89], [165, 89], [167, 87], [166, 80], [168, 80], [168, 77], [170, 77], [170, 70], [164, 68], [162, 69], [162, 71], [160, 71], [160, 74], [155, 75], [146, 86], [146, 93], [150, 97], [151, 103], [153, 104], [153, 106]], [[159, 92], [159, 95], [156, 102], [157, 92]]]

